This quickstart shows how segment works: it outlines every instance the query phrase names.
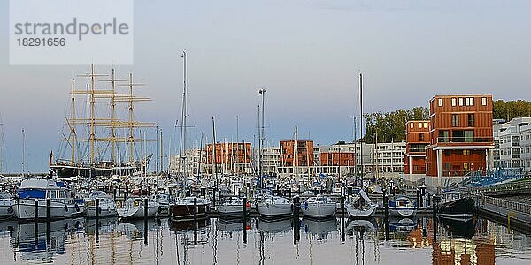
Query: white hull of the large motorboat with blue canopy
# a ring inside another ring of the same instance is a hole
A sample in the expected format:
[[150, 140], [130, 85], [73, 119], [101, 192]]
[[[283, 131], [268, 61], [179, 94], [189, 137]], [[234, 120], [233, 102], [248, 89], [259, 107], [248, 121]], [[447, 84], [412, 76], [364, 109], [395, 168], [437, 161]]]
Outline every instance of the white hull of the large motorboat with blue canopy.
[[[35, 200], [34, 199], [19, 199], [15, 205], [12, 206], [17, 218], [22, 220], [35, 219]], [[45, 219], [46, 216], [46, 200], [38, 200], [38, 217]], [[50, 219], [61, 219], [72, 216], [80, 216], [83, 214], [83, 208], [76, 204], [65, 204], [62, 201], [50, 200]]]

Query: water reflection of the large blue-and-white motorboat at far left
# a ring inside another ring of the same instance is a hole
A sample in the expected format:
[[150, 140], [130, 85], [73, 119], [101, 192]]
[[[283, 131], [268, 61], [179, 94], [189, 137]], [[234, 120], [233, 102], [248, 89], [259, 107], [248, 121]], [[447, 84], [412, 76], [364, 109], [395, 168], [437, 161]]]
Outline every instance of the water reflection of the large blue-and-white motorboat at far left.
[[65, 254], [66, 238], [83, 231], [85, 219], [65, 219], [50, 223], [17, 223], [12, 246], [22, 260], [53, 262], [54, 255]]

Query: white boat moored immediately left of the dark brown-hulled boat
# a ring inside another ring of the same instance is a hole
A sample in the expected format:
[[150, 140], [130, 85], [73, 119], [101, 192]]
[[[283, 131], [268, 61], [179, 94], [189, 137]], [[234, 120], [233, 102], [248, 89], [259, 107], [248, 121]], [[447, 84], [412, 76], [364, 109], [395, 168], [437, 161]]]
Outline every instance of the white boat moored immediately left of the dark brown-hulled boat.
[[[145, 218], [145, 200], [146, 198], [142, 197], [129, 197], [123, 204], [117, 205], [117, 212], [121, 218], [125, 219], [137, 219]], [[158, 211], [157, 201], [148, 200], [148, 218], [155, 217]]]

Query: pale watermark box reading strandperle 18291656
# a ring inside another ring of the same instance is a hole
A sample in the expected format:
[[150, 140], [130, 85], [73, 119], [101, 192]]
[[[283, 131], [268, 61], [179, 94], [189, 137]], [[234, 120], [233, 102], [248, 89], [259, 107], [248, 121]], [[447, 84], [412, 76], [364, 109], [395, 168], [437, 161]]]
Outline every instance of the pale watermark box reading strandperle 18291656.
[[11, 0], [10, 64], [133, 64], [133, 0]]

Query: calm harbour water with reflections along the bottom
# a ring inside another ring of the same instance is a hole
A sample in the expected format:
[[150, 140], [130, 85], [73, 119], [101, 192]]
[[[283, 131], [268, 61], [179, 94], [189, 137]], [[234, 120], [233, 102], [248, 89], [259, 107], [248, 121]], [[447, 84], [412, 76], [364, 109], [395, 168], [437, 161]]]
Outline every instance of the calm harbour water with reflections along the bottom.
[[0, 264], [531, 264], [531, 236], [483, 219], [438, 223], [436, 242], [428, 218], [391, 219], [387, 233], [381, 219], [345, 220], [344, 235], [340, 219], [95, 224], [1, 222]]

